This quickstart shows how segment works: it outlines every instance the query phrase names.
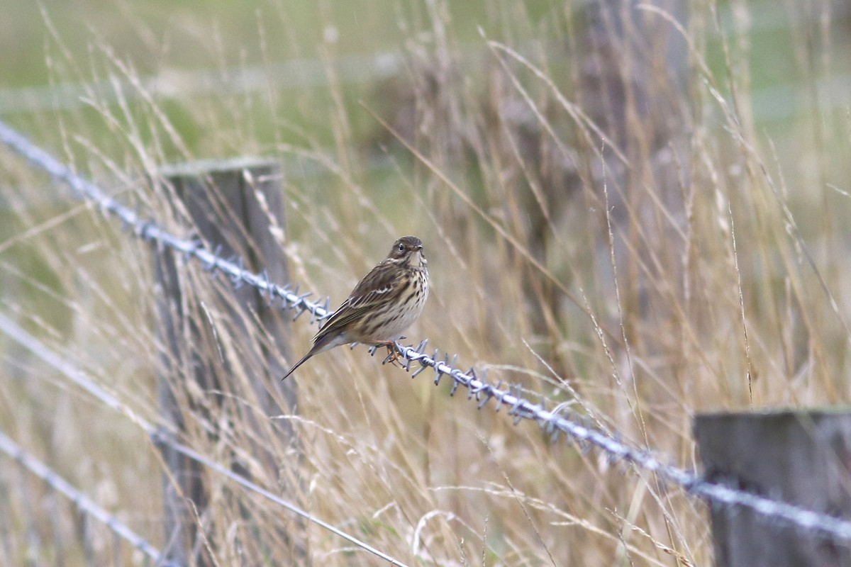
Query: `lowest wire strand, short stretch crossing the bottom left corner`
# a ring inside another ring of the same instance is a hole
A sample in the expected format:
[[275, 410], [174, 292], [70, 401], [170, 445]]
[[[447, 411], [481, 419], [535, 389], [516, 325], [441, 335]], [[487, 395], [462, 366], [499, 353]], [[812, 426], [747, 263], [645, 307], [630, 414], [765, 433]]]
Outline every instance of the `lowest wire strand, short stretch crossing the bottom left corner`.
[[127, 524], [124, 524], [120, 519], [117, 519], [114, 515], [100, 507], [89, 496], [86, 496], [82, 490], [75, 488], [74, 485], [71, 485], [70, 482], [62, 478], [59, 473], [56, 473], [52, 468], [49, 468], [35, 456], [24, 450], [23, 447], [4, 434], [3, 431], [0, 431], [0, 451], [9, 455], [15, 461], [20, 462], [23, 467], [35, 474], [39, 479], [42, 479], [50, 488], [66, 496], [83, 513], [97, 519], [101, 524], [105, 524], [112, 533], [124, 541], [128, 541], [134, 548], [153, 559], [157, 565], [178, 567], [173, 562], [163, 562], [163, 553], [157, 547], [152, 546], [145, 538], [131, 530]]

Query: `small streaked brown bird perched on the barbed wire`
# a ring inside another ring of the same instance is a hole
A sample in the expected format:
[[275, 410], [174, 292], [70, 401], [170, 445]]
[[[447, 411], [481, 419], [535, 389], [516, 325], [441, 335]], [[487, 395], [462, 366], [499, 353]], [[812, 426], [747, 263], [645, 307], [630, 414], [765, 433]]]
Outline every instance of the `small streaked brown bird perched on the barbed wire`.
[[281, 379], [314, 354], [340, 344], [377, 344], [392, 349], [393, 341], [402, 337], [426, 305], [427, 265], [419, 238], [403, 236], [394, 242], [387, 258], [363, 276], [349, 298], [313, 337], [310, 352]]

